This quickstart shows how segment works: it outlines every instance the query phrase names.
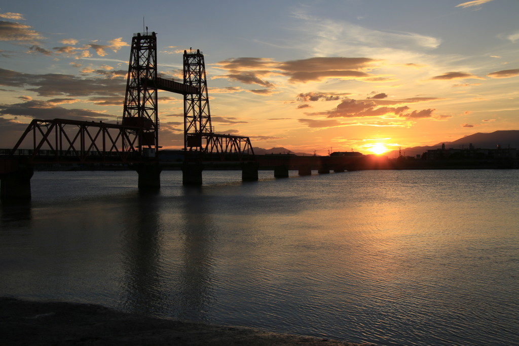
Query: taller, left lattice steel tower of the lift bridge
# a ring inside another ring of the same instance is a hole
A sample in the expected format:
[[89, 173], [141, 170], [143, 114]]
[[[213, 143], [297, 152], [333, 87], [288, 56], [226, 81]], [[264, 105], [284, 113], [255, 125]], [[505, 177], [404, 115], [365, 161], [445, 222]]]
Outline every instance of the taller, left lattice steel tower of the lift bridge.
[[[122, 125], [142, 128], [137, 149], [141, 155], [145, 153], [145, 156], [151, 157], [156, 157], [159, 148], [156, 79], [157, 36], [155, 32], [134, 34], [131, 43]], [[126, 131], [134, 134], [134, 130]], [[128, 150], [132, 144], [125, 141], [124, 145], [125, 150]]]

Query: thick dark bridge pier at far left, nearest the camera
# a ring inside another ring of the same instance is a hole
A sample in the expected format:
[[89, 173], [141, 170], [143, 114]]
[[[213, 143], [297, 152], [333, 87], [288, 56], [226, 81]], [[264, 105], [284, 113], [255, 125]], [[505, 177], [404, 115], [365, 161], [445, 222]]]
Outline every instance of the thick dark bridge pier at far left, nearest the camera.
[[33, 174], [34, 170], [30, 166], [0, 174], [0, 200], [30, 200]]

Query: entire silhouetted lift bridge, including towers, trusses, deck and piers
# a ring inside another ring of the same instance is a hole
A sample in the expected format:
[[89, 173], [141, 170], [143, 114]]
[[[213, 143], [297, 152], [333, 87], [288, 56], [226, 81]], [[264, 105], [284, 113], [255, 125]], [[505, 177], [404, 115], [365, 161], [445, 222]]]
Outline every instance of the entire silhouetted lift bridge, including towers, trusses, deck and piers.
[[203, 54], [184, 51], [182, 83], [161, 78], [156, 34], [146, 32], [132, 38], [122, 122], [33, 119], [13, 149], [0, 155], [2, 200], [30, 199], [33, 168], [41, 164], [126, 164], [138, 173], [139, 188], [159, 188], [159, 89], [184, 98], [184, 185], [201, 185], [204, 164], [210, 162], [239, 164], [243, 181], [257, 181], [258, 169], [274, 169], [276, 177], [288, 176], [289, 169], [300, 175], [340, 172], [361, 159], [255, 156], [249, 137], [214, 133]]

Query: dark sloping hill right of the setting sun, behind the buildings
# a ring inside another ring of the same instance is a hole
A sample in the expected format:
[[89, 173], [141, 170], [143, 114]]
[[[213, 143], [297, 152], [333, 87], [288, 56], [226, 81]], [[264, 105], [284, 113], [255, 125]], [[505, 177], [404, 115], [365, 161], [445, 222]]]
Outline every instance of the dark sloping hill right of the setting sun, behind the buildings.
[[[498, 145], [501, 147], [511, 147], [519, 149], [519, 130], [500, 130], [494, 131], [490, 133], [474, 133], [465, 137], [460, 138], [459, 140], [453, 142], [441, 142], [438, 144], [434, 144], [431, 146], [419, 146], [419, 147], [411, 147], [402, 149], [402, 155], [405, 156], [416, 156], [417, 154], [422, 154], [430, 149], [439, 149], [442, 147], [442, 144], [445, 144], [445, 148], [468, 148], [470, 144], [474, 146], [474, 148], [484, 148], [484, 149], [495, 149]], [[405, 154], [404, 154], [405, 153]], [[398, 150], [390, 151], [386, 154], [389, 158], [393, 158], [398, 156]]]

